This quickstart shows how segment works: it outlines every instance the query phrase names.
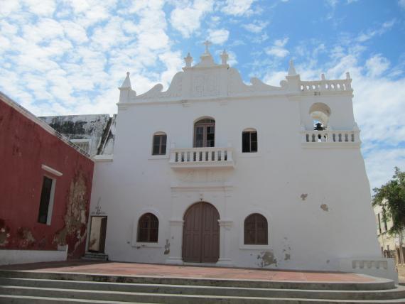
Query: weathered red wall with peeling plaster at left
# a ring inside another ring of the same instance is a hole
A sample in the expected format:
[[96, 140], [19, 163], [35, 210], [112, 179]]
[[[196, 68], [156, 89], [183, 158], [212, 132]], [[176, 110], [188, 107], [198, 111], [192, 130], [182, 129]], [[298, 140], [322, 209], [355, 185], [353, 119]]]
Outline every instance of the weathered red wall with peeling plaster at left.
[[[41, 165], [63, 173], [58, 177]], [[85, 252], [94, 163], [0, 99], [0, 249]], [[55, 178], [50, 225], [37, 222], [43, 176]]]

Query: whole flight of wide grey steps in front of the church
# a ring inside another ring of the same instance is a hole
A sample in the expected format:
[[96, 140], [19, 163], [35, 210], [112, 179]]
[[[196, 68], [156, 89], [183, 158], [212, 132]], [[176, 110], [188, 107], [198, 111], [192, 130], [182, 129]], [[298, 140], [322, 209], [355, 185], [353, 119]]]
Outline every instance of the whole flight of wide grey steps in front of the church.
[[405, 287], [2, 270], [0, 303], [405, 303]]

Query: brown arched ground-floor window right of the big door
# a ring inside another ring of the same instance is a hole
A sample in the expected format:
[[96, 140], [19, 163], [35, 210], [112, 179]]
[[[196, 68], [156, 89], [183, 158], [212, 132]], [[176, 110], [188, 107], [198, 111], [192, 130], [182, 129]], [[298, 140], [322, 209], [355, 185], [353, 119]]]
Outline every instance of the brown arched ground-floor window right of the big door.
[[267, 245], [267, 219], [259, 213], [253, 213], [244, 219], [244, 244]]

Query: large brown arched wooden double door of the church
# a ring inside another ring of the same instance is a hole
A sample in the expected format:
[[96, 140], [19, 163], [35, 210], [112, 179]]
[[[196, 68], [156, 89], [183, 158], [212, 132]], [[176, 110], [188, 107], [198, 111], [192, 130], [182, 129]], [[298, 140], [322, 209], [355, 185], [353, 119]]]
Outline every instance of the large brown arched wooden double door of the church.
[[208, 202], [197, 202], [185, 212], [183, 261], [216, 263], [220, 257], [220, 214]]

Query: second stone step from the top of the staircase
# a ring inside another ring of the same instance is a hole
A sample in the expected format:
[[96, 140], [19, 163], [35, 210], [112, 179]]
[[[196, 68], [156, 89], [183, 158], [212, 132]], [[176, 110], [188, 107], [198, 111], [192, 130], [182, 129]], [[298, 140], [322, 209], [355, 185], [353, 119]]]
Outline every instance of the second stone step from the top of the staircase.
[[261, 298], [307, 298], [325, 300], [389, 300], [405, 298], [405, 288], [398, 286], [382, 291], [325, 291], [274, 288], [234, 288], [215, 286], [180, 286], [147, 283], [109, 283], [90, 281], [62, 281], [32, 278], [0, 278], [0, 286], [55, 288], [65, 290], [113, 291], [127, 293], [161, 293], [183, 295], [220, 295]]

